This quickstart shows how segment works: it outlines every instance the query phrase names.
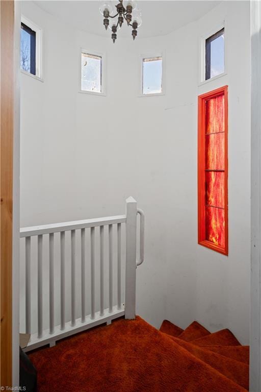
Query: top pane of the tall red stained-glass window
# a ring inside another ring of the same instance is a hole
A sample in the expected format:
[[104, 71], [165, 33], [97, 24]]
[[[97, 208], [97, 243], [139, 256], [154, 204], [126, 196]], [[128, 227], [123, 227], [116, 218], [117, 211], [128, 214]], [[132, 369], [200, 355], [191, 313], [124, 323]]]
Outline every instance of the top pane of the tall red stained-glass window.
[[206, 133], [223, 132], [225, 127], [225, 97], [218, 95], [206, 101]]

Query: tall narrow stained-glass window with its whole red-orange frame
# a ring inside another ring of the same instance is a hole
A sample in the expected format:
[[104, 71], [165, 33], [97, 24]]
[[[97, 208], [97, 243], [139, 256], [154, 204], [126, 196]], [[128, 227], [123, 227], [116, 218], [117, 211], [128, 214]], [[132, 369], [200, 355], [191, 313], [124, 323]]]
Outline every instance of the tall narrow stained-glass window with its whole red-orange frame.
[[198, 97], [198, 243], [228, 254], [227, 86]]

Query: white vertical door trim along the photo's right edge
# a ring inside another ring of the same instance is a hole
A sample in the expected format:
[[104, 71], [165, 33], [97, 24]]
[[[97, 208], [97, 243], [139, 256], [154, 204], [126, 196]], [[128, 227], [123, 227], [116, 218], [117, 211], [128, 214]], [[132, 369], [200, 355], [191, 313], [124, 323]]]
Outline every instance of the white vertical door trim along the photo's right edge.
[[261, 389], [261, 290], [260, 290], [260, 181], [261, 181], [261, 7], [251, 2], [251, 283], [250, 283], [250, 385]]

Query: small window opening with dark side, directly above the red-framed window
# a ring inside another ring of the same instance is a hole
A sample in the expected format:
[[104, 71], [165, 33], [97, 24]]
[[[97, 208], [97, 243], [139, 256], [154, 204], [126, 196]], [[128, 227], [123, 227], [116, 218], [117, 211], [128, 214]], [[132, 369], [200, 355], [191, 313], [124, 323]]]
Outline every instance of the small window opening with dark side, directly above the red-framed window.
[[225, 71], [224, 28], [205, 40], [205, 80], [221, 75]]

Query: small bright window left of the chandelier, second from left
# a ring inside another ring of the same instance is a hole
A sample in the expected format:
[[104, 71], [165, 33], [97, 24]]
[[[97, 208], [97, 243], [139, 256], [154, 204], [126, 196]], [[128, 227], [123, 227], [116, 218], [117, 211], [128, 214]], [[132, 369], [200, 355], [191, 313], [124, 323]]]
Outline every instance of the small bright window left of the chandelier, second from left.
[[82, 52], [81, 90], [102, 93], [102, 57]]

